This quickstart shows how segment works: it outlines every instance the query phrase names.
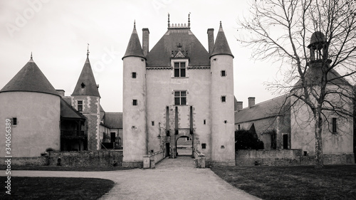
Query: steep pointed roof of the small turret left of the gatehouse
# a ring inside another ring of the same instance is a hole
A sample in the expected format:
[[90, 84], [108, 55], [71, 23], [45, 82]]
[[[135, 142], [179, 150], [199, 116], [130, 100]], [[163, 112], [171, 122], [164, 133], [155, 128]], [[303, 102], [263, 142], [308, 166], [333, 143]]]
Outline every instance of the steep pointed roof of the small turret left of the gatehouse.
[[88, 54], [72, 95], [88, 95], [100, 98]]

